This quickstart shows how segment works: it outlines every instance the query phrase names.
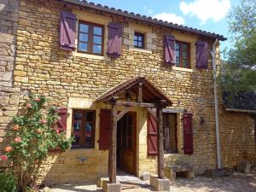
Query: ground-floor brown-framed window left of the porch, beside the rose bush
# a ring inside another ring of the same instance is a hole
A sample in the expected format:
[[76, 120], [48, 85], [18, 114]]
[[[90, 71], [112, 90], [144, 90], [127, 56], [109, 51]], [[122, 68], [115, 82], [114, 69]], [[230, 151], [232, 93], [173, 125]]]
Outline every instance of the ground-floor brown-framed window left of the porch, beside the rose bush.
[[95, 111], [73, 110], [72, 148], [94, 147], [95, 119]]

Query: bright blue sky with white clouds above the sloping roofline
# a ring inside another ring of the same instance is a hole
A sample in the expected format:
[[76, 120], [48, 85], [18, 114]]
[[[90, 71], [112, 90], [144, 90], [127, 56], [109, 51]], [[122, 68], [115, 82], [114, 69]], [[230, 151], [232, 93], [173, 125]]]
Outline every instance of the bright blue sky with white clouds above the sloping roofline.
[[[239, 0], [89, 0], [140, 15], [172, 21], [229, 38], [227, 15]], [[230, 41], [221, 43], [221, 49], [230, 48]]]

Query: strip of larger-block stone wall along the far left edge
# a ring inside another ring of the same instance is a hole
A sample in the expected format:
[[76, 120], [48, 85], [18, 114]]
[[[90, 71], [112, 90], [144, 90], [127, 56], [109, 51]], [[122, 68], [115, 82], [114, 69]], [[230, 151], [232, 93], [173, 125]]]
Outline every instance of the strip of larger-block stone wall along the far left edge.
[[20, 88], [13, 87], [19, 9], [19, 0], [0, 0], [0, 148], [19, 106]]

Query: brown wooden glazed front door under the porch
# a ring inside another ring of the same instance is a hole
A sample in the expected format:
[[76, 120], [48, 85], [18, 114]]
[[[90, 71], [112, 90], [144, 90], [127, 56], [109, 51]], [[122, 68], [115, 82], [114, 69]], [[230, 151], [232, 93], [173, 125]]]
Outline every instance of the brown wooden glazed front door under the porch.
[[117, 166], [130, 174], [136, 173], [136, 113], [126, 113], [118, 122]]

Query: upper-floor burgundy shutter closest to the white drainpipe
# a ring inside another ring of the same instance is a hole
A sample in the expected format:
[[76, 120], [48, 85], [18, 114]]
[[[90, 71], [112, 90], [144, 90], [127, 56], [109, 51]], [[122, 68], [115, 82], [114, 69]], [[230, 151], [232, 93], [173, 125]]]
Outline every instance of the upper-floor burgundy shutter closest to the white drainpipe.
[[208, 67], [208, 50], [207, 49], [208, 49], [207, 41], [197, 41], [195, 43], [197, 68]]

